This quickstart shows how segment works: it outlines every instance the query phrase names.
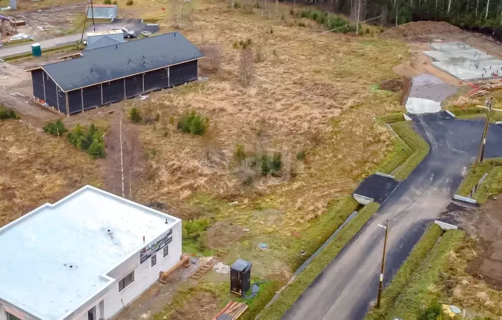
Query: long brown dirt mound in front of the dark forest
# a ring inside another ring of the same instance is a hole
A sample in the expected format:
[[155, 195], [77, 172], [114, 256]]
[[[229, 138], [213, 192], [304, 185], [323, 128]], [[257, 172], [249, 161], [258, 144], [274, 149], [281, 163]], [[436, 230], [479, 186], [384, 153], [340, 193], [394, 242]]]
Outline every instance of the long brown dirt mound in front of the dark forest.
[[461, 32], [462, 30], [460, 28], [452, 26], [449, 23], [443, 21], [417, 21], [405, 23], [404, 25], [391, 28], [385, 31], [382, 36], [387, 38], [409, 40], [410, 38], [413, 39], [428, 35], [456, 35]]

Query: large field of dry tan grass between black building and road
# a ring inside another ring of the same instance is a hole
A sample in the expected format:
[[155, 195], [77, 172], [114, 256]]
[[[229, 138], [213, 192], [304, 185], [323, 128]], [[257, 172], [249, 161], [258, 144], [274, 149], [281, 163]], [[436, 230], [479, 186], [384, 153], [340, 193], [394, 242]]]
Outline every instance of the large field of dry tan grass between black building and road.
[[[194, 0], [192, 6], [197, 8], [193, 23], [181, 32], [195, 43], [220, 43], [230, 62], [207, 81], [146, 102], [155, 106], [160, 121], [141, 132], [145, 149], [153, 152], [140, 198], [181, 203], [200, 192], [228, 199], [268, 193], [268, 205], [285, 209], [286, 225], [281, 227], [286, 228], [280, 229], [289, 233], [324, 212], [328, 200], [353, 190], [391, 148], [388, 131], [363, 112], [401, 110], [396, 94], [372, 92], [369, 85], [393, 77], [392, 67], [400, 63], [400, 54], [408, 55], [407, 49], [399, 41], [369, 35], [330, 33], [304, 39], [265, 52], [263, 62], [256, 64], [257, 75], [283, 86], [254, 78], [244, 88], [238, 82], [240, 49], [232, 48], [234, 42], [252, 39], [252, 50], [267, 50], [317, 30], [243, 15], [227, 10], [223, 2]], [[212, 139], [176, 130], [186, 110], [209, 117]], [[238, 143], [250, 153], [281, 152], [282, 176], [258, 179], [251, 188], [243, 185], [232, 167]], [[209, 157], [203, 151], [207, 148]], [[296, 154], [304, 149], [308, 156], [302, 163]]]

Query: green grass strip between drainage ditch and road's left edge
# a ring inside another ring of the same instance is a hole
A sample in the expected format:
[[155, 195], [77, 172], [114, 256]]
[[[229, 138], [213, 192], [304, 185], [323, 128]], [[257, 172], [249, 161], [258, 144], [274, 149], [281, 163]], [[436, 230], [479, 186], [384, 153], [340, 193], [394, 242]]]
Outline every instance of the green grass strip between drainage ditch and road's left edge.
[[295, 303], [298, 297], [324, 270], [340, 250], [357, 234], [364, 224], [378, 210], [380, 204], [371, 202], [364, 206], [357, 216], [343, 228], [326, 248], [291, 282], [277, 299], [260, 313], [261, 320], [280, 319]]

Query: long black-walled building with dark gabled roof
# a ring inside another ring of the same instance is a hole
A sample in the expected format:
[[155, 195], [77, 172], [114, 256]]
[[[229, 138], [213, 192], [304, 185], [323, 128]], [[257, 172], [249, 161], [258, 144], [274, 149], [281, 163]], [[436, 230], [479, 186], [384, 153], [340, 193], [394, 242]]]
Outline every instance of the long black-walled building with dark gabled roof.
[[102, 42], [82, 57], [31, 69], [34, 97], [70, 115], [196, 80], [204, 57], [179, 32]]

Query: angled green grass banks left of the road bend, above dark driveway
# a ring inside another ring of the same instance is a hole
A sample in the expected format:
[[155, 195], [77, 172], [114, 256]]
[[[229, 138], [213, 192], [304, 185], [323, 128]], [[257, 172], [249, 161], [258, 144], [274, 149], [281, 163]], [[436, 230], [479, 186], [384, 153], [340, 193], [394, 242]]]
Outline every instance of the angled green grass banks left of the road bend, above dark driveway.
[[377, 171], [393, 173], [397, 180], [404, 180], [427, 156], [430, 150], [429, 144], [410, 125], [411, 123], [407, 121], [390, 125], [398, 137], [394, 139], [390, 155]]

